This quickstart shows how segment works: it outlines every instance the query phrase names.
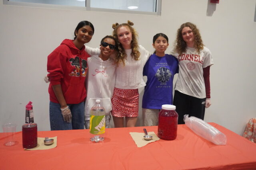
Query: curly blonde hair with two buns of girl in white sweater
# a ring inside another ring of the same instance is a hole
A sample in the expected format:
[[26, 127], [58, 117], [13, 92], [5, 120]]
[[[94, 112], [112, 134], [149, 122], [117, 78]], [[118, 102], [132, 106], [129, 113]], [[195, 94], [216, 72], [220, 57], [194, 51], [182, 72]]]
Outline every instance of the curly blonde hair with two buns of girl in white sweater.
[[[120, 27], [124, 27], [124, 26], [128, 27], [132, 33], [132, 41], [131, 41], [132, 53], [131, 53], [131, 55], [134, 58], [134, 60], [139, 60], [140, 51], [139, 51], [139, 45], [138, 45], [138, 41], [137, 41], [138, 34], [137, 34], [136, 30], [132, 27], [132, 25], [134, 25], [134, 23], [132, 23], [129, 20], [127, 21], [127, 23], [112, 24], [112, 28], [114, 29], [113, 36], [116, 39], [118, 39], [118, 29]], [[123, 63], [125, 65], [125, 58], [127, 57], [127, 54], [125, 53], [125, 50], [119, 41], [118, 41], [118, 52], [119, 53], [115, 57], [116, 64]]]

